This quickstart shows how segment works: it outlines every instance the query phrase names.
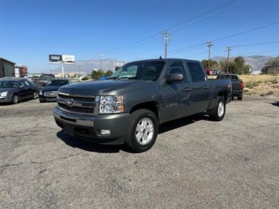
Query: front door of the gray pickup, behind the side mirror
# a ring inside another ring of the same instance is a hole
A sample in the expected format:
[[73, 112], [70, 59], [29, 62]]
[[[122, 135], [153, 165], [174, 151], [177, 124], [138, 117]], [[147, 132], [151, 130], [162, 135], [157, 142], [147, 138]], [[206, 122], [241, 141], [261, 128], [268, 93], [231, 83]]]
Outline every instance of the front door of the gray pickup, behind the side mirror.
[[163, 100], [163, 121], [171, 121], [175, 118], [181, 118], [188, 115], [190, 84], [183, 61], [169, 63], [165, 77], [172, 73], [181, 73], [182, 82], [167, 83], [164, 82], [161, 88]]

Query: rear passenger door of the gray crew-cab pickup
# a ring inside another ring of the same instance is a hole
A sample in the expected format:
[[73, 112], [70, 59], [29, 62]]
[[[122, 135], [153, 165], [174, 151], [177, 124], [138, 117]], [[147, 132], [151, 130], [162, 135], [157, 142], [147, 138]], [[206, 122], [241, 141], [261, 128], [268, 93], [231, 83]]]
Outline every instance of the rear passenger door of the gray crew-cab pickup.
[[210, 86], [204, 70], [197, 61], [186, 61], [192, 79], [190, 106], [193, 114], [205, 111], [209, 107]]

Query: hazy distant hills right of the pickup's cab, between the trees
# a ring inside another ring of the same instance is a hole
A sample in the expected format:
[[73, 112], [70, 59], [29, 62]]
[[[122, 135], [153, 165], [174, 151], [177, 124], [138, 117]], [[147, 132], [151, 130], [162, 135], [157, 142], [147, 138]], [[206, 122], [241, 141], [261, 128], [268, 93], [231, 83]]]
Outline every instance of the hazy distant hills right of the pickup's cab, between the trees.
[[[243, 56], [243, 58], [245, 59], [246, 64], [252, 67], [252, 73], [259, 74], [262, 70], [262, 67], [264, 67], [264, 64], [268, 59], [271, 58], [271, 56], [255, 55], [255, 56]], [[212, 59], [215, 61], [222, 61], [222, 60], [226, 60], [227, 58], [225, 56], [213, 56]], [[234, 57], [230, 59], [234, 59]]]

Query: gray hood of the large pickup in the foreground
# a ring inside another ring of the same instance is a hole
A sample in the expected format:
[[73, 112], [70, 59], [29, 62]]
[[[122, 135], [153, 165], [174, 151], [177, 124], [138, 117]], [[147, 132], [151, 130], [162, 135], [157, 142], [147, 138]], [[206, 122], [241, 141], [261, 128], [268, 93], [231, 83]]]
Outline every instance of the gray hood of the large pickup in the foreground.
[[126, 91], [133, 91], [135, 88], [143, 88], [152, 81], [146, 80], [104, 80], [98, 82], [82, 82], [61, 86], [59, 92], [73, 95], [107, 95], [121, 94]]

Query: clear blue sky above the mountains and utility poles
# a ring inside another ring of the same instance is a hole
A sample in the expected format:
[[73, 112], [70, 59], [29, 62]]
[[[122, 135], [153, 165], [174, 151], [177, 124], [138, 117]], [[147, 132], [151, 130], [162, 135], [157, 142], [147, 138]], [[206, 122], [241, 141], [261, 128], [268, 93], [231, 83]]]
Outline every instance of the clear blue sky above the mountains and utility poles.
[[[169, 57], [206, 59], [202, 43], [279, 22], [278, 0], [0, 0], [0, 8], [0, 57], [27, 65], [29, 72], [57, 68], [48, 63], [48, 54], [73, 54], [76, 60], [98, 59], [99, 52], [123, 61], [158, 57], [163, 55], [160, 34], [130, 44], [197, 16], [169, 30]], [[233, 47], [232, 56], [278, 55], [279, 24], [216, 40], [212, 56], [225, 56], [228, 45], [273, 40]], [[172, 51], [181, 47], [188, 48]]]

